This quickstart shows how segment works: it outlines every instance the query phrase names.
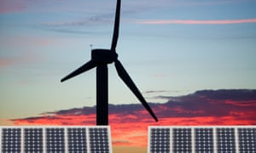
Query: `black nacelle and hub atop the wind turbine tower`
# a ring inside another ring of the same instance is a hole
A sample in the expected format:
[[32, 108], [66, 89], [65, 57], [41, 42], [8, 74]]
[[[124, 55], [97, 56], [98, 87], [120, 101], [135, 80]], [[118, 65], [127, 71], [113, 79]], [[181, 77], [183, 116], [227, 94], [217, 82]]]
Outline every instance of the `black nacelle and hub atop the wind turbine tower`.
[[97, 63], [109, 64], [115, 61], [117, 57], [118, 54], [110, 49], [96, 48], [91, 50], [91, 59], [95, 60]]

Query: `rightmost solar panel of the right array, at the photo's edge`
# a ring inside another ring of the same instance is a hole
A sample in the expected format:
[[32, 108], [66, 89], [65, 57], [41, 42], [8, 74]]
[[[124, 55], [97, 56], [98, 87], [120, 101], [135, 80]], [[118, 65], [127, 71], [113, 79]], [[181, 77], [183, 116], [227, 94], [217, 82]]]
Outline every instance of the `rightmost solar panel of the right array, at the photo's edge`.
[[238, 128], [239, 151], [256, 152], [256, 129], [253, 127]]

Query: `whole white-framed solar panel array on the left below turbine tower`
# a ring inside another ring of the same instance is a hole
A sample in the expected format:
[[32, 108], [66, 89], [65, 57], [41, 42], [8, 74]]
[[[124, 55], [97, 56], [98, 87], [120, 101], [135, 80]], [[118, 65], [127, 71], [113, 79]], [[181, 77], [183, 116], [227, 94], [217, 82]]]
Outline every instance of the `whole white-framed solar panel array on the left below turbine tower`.
[[0, 152], [111, 153], [109, 126], [0, 127]]

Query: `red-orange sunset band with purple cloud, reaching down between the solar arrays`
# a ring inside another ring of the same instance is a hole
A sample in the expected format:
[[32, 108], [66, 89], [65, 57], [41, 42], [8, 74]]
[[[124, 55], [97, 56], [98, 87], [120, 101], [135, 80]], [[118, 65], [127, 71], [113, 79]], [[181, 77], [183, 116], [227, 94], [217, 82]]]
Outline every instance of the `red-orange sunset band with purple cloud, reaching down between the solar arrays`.
[[[166, 103], [149, 103], [159, 122], [140, 104], [109, 105], [113, 151], [146, 152], [148, 126], [256, 125], [256, 89], [201, 90]], [[92, 126], [96, 108], [83, 107], [42, 112], [38, 116], [9, 120], [12, 126]]]

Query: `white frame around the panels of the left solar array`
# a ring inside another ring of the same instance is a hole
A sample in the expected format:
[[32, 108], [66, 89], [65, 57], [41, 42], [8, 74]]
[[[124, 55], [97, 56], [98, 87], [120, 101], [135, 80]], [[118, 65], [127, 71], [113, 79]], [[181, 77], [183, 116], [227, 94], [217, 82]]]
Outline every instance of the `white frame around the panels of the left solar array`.
[[[61, 129], [63, 130], [63, 133], [61, 133], [61, 135], [63, 136], [63, 140], [64, 140], [64, 152], [76, 152], [76, 151], [68, 151], [68, 143], [71, 141], [70, 138], [68, 138], [68, 129], [71, 128], [79, 128], [82, 129], [82, 131], [84, 131], [85, 133], [85, 138], [86, 138], [86, 150], [87, 151], [77, 151], [77, 152], [92, 152], [90, 150], [90, 133], [89, 133], [89, 129], [90, 128], [104, 128], [104, 130], [106, 131], [107, 136], [105, 136], [106, 139], [108, 139], [108, 152], [112, 153], [113, 149], [112, 149], [112, 139], [111, 139], [111, 129], [109, 126], [0, 126], [0, 152], [4, 152], [3, 151], [3, 129], [20, 129], [20, 151], [21, 153], [23, 152], [27, 152], [26, 149], [26, 130], [27, 129], [41, 129], [42, 130], [42, 136], [40, 136], [40, 138], [38, 139], [42, 139], [43, 140], [43, 151], [36, 151], [36, 152], [49, 152], [47, 151], [47, 129], [49, 128], [53, 128], [53, 129]], [[33, 137], [33, 136], [32, 136]], [[85, 144], [84, 144], [85, 145]], [[78, 147], [79, 148], [79, 147]], [[53, 152], [55, 152], [55, 150], [52, 150]], [[32, 151], [35, 152], [35, 151]], [[62, 151], [61, 151], [62, 152]]]

